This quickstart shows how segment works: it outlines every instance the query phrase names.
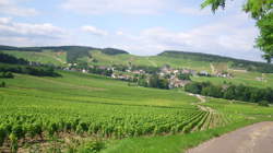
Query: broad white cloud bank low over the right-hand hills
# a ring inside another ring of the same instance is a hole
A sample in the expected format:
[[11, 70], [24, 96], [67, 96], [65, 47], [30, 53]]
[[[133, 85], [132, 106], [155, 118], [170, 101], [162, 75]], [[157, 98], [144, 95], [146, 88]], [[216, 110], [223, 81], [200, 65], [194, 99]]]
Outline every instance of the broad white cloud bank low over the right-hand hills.
[[122, 32], [119, 37], [123, 37], [122, 42], [126, 44], [116, 47], [138, 55], [155, 55], [174, 49], [260, 60], [261, 52], [253, 48], [258, 30], [246, 23], [250, 23], [248, 16], [237, 14], [188, 31], [175, 32], [153, 27], [142, 31], [136, 36]]

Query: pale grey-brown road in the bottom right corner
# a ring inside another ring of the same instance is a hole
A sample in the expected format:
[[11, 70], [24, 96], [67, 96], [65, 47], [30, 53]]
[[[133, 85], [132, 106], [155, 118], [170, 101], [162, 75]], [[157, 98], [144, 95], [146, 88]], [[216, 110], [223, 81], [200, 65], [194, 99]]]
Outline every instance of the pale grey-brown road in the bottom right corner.
[[273, 121], [238, 129], [190, 149], [187, 153], [273, 153]]

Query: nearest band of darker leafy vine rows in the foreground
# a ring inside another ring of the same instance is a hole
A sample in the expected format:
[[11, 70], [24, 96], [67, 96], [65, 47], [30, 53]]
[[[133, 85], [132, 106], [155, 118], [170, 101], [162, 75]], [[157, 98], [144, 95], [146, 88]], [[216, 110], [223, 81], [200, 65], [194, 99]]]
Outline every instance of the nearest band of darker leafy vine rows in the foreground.
[[145, 108], [103, 104], [93, 104], [83, 111], [54, 107], [17, 109], [9, 106], [1, 108], [1, 111], [4, 113], [0, 116], [1, 145], [12, 150], [23, 146], [27, 140], [47, 140], [55, 136], [61, 138], [63, 133], [122, 139], [187, 133], [228, 122], [219, 115], [191, 108]]

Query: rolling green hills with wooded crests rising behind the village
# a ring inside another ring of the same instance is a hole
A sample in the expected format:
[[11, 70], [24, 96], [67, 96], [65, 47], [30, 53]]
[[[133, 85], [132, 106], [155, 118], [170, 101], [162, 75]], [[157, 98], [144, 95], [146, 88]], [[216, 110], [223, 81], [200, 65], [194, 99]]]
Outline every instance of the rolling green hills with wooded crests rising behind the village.
[[[57, 47], [10, 47], [0, 46], [0, 52], [9, 54], [28, 61], [38, 61], [55, 66], [68, 67], [69, 63], [79, 62], [88, 66], [144, 66], [188, 68], [195, 71], [217, 73], [227, 71], [233, 79], [225, 78], [192, 78], [193, 81], [210, 81], [215, 84], [232, 82], [256, 87], [270, 87], [273, 85], [273, 66], [264, 62], [248, 61], [228, 57], [186, 52], [164, 51], [156, 56], [134, 56], [124, 50], [115, 48], [99, 49], [82, 46], [57, 46]], [[262, 78], [263, 81], [258, 79]]]

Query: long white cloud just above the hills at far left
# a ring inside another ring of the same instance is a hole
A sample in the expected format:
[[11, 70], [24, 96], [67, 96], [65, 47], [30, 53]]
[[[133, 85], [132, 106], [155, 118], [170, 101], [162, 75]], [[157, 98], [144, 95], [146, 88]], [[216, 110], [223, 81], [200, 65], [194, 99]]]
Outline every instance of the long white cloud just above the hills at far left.
[[0, 17], [0, 40], [7, 45], [52, 45], [68, 37], [66, 30], [50, 23], [17, 23], [9, 17]]

